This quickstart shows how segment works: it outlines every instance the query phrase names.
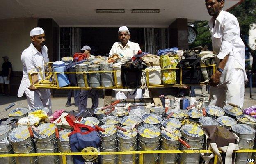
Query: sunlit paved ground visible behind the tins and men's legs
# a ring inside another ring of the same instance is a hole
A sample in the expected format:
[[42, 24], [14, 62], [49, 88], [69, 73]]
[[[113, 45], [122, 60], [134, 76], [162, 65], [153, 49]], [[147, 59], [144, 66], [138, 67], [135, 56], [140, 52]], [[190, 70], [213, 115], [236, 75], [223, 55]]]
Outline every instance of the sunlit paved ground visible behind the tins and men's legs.
[[[256, 95], [256, 88], [253, 89], [254, 93]], [[201, 98], [201, 89], [200, 88], [196, 88], [196, 95], [197, 95], [197, 99]], [[171, 96], [170, 96], [171, 97]], [[66, 109], [68, 111], [71, 110], [77, 110], [78, 108], [75, 107], [74, 105], [70, 106], [70, 107], [65, 107], [66, 104], [66, 98], [52, 98], [52, 109], [53, 112], [55, 110], [58, 109]], [[71, 100], [71, 103], [73, 102], [73, 98]], [[27, 107], [27, 100], [26, 98], [18, 98], [18, 96], [0, 96], [0, 112], [3, 116], [7, 117], [8, 116], [8, 112], [11, 110], [9, 109], [8, 111], [5, 111], [5, 107], [7, 107], [9, 104], [11, 103], [15, 103], [16, 105], [14, 107], [12, 107], [11, 109], [17, 108], [17, 107], [23, 107], [23, 105], [25, 107]], [[99, 100], [99, 107], [102, 107], [104, 103], [104, 99], [100, 98]], [[251, 107], [253, 105], [256, 105], [256, 96], [254, 96], [253, 98], [250, 98], [250, 93], [249, 93], [249, 88], [245, 89], [245, 103], [244, 103], [244, 109], [247, 107]], [[91, 98], [88, 98], [88, 103], [87, 103], [87, 107], [91, 107]], [[2, 118], [2, 115], [0, 115], [0, 118]]]

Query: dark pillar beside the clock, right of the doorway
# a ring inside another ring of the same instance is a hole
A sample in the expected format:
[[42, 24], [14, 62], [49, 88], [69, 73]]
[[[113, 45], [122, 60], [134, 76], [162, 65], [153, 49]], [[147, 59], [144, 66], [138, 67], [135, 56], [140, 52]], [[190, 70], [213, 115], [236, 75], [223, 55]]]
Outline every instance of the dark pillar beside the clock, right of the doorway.
[[169, 47], [188, 49], [187, 19], [177, 18], [169, 25]]

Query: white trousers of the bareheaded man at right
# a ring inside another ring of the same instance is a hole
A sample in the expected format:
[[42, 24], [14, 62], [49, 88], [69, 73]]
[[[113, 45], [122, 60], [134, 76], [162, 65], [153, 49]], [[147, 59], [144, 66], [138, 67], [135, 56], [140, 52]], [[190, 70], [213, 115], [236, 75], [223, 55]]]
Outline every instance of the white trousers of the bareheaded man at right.
[[231, 79], [217, 87], [210, 87], [210, 105], [223, 107], [228, 103], [239, 105], [244, 104], [245, 79], [243, 70], [235, 68]]

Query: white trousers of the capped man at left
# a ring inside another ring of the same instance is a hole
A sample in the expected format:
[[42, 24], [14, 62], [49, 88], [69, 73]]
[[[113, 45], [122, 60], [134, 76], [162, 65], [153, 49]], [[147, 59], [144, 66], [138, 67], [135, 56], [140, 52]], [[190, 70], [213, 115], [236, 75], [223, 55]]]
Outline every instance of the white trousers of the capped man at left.
[[31, 110], [34, 107], [48, 107], [49, 108], [49, 116], [52, 114], [52, 102], [50, 96], [44, 98], [39, 91], [30, 91], [27, 87], [25, 89], [25, 94], [27, 96], [27, 105]]

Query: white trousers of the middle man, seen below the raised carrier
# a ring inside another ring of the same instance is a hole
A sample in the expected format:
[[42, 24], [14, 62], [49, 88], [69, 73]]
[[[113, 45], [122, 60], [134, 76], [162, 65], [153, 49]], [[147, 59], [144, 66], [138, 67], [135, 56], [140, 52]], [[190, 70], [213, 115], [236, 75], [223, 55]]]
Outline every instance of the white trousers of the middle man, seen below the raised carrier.
[[[130, 93], [133, 93], [134, 91], [130, 91]], [[139, 99], [143, 98], [142, 89], [137, 89], [136, 93], [134, 95], [130, 95], [128, 91], [116, 91], [116, 99]], [[136, 105], [143, 105], [143, 103], [136, 103]], [[138, 106], [140, 109], [144, 109], [142, 106]], [[137, 107], [131, 107], [131, 109], [135, 109]]]

